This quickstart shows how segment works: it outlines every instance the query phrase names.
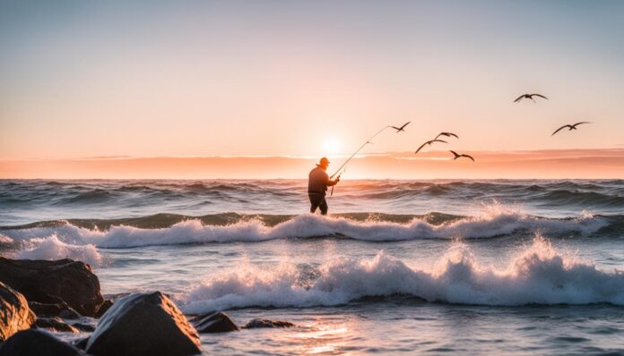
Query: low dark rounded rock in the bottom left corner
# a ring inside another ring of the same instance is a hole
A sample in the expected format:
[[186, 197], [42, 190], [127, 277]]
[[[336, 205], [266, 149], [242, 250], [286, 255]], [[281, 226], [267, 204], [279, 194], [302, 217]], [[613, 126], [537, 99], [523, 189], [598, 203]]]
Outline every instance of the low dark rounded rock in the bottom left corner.
[[22, 330], [0, 344], [0, 356], [78, 356], [84, 352], [42, 330]]

